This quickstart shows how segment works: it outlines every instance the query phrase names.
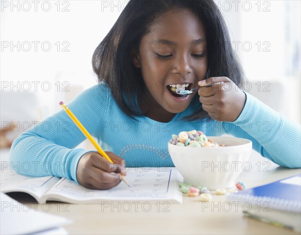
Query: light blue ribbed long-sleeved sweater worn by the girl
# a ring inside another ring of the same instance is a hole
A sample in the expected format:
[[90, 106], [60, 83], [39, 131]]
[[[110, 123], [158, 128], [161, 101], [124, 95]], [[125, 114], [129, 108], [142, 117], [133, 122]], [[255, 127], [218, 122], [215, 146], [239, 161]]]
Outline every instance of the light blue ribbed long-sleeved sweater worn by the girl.
[[[174, 166], [167, 143], [172, 134], [189, 130], [202, 130], [207, 136], [227, 133], [250, 139], [253, 149], [262, 156], [281, 166], [301, 167], [300, 125], [247, 93], [245, 106], [235, 122], [183, 120], [196, 110], [193, 103], [168, 123], [147, 117], [137, 117], [135, 121], [120, 110], [110, 89], [102, 83], [84, 91], [68, 107], [100, 146], [124, 158], [128, 167]], [[55, 175], [77, 181], [78, 161], [89, 151], [75, 147], [84, 139], [62, 110], [14, 141], [12, 165], [25, 175]]]

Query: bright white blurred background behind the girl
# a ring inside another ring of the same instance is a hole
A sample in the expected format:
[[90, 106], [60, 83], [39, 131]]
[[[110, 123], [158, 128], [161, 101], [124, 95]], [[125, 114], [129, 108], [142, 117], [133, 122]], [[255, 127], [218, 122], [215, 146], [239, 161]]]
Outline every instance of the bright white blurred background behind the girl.
[[[45, 118], [95, 85], [92, 54], [127, 2], [1, 1], [2, 126], [10, 115]], [[215, 3], [249, 81], [244, 89], [300, 122], [300, 1]]]

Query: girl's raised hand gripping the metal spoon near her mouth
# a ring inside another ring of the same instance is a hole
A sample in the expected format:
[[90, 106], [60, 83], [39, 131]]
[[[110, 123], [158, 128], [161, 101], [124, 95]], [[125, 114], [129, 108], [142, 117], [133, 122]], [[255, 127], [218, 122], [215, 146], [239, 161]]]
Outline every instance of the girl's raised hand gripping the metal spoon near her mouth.
[[[213, 83], [223, 84], [203, 87]], [[209, 116], [219, 122], [233, 122], [240, 115], [246, 96], [234, 82], [227, 77], [210, 77], [199, 82], [200, 102]]]

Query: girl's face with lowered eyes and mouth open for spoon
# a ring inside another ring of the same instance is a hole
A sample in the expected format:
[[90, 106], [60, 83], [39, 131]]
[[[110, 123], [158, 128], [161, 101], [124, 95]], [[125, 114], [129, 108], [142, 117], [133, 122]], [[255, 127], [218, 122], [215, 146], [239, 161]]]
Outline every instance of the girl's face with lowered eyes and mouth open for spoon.
[[142, 111], [153, 113], [150, 116], [155, 120], [156, 116], [160, 120], [162, 115], [173, 117], [184, 111], [197, 92], [178, 97], [171, 88], [181, 85], [192, 89], [205, 77], [207, 55], [203, 23], [186, 9], [162, 14], [142, 37], [133, 63], [141, 69], [149, 92], [145, 94], [148, 109], [141, 107]]

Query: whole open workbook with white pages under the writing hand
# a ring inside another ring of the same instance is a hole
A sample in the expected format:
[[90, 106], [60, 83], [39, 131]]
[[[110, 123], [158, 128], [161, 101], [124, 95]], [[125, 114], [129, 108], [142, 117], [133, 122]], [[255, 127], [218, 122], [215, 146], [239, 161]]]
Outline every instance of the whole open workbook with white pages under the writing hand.
[[55, 176], [29, 177], [15, 171], [2, 171], [2, 192], [26, 192], [39, 203], [49, 200], [76, 204], [101, 203], [111, 200], [169, 201], [182, 203], [178, 181], [182, 176], [175, 167], [127, 168], [128, 187], [121, 182], [108, 190], [87, 189], [73, 180]]

